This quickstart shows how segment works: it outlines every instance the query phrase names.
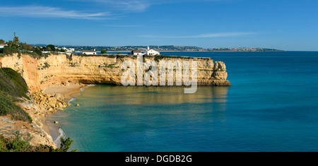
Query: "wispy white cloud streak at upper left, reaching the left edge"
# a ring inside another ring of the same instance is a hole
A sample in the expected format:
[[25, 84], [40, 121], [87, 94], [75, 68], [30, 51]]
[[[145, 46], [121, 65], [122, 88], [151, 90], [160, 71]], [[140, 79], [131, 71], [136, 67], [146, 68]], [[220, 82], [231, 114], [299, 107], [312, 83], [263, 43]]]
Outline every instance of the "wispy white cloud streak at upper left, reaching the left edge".
[[109, 12], [90, 13], [88, 11], [66, 10], [47, 6], [0, 7], [0, 16], [35, 17], [35, 18], [77, 18], [77, 19], [112, 19]]

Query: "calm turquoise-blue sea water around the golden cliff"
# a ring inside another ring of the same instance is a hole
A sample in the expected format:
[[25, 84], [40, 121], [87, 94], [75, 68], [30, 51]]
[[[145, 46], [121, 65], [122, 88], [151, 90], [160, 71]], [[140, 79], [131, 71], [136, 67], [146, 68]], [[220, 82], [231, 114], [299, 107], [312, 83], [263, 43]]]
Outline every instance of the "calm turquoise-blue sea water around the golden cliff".
[[79, 151], [318, 151], [318, 52], [164, 52], [224, 61], [231, 87], [87, 88], [59, 121]]

